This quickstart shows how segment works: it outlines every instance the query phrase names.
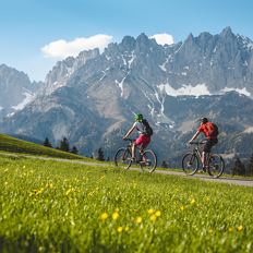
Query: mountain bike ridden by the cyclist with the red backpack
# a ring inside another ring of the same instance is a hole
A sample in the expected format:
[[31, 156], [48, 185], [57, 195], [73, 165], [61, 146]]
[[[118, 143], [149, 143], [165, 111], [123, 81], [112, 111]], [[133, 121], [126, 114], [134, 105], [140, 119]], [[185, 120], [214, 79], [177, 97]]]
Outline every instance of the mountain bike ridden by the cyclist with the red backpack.
[[207, 153], [206, 154], [206, 166], [204, 167], [201, 159], [201, 145], [205, 144], [202, 142], [192, 142], [194, 148], [192, 152], [186, 153], [182, 158], [182, 168], [185, 174], [193, 176], [200, 169], [200, 166], [204, 170], [207, 170], [208, 174], [213, 178], [219, 178], [225, 168], [224, 159], [218, 154]]

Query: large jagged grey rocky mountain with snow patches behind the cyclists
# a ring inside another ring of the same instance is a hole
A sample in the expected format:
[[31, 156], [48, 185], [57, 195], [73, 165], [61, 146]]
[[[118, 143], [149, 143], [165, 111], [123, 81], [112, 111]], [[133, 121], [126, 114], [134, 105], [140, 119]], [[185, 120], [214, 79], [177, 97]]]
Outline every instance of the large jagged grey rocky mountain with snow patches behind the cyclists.
[[253, 126], [252, 45], [229, 27], [170, 46], [145, 34], [125, 36], [103, 53], [58, 62], [36, 100], [0, 129], [56, 142], [64, 135], [86, 154], [104, 146], [111, 156], [133, 113], [142, 112], [154, 126], [160, 158], [177, 156], [202, 116], [220, 123], [227, 138]]

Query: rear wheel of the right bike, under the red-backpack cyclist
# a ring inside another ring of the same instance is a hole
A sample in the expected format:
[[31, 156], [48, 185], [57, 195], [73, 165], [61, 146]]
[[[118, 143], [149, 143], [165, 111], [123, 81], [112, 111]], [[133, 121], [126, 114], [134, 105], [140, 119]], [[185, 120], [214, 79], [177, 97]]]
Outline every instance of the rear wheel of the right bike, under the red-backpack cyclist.
[[217, 154], [210, 154], [208, 160], [208, 174], [213, 178], [219, 178], [224, 173], [224, 158]]

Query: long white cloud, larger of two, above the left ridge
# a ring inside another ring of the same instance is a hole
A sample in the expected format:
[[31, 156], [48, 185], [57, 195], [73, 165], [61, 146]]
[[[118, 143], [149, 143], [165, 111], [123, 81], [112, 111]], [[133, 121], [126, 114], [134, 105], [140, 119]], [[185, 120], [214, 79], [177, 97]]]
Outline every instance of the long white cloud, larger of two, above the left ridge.
[[87, 38], [75, 38], [71, 41], [59, 39], [41, 48], [47, 58], [64, 59], [67, 57], [76, 57], [83, 50], [99, 48], [104, 51], [105, 47], [112, 41], [112, 36], [98, 34]]

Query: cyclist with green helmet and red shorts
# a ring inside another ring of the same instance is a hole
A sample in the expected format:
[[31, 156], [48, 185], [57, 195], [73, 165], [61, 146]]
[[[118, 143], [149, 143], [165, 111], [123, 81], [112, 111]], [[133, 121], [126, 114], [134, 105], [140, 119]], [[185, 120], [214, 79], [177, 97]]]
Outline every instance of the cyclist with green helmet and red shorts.
[[128, 136], [134, 131], [134, 129], [137, 130], [138, 132], [138, 137], [133, 142], [132, 145], [132, 159], [135, 159], [135, 146], [140, 146], [141, 145], [141, 153], [143, 152], [143, 149], [149, 144], [150, 142], [150, 136], [144, 134], [144, 118], [143, 115], [141, 113], [136, 113], [134, 116], [134, 120], [135, 122], [133, 123], [132, 128], [128, 131], [128, 133], [123, 136], [123, 140], [128, 138]]

